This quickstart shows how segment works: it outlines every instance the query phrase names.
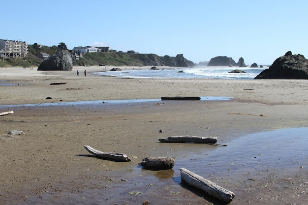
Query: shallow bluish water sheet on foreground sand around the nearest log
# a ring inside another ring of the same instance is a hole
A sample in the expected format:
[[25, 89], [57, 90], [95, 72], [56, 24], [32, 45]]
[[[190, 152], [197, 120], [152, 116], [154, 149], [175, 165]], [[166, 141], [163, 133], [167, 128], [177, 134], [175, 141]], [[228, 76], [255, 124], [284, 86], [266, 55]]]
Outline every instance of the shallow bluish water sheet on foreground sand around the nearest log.
[[[97, 178], [77, 179], [75, 183], [83, 184], [84, 187], [78, 192], [46, 193], [41, 198], [29, 198], [28, 202], [31, 205], [141, 205], [145, 202], [150, 205], [223, 204], [182, 185], [179, 169], [183, 167], [233, 191], [235, 199], [231, 204], [247, 204], [252, 200], [251, 196], [259, 197], [257, 195], [262, 194], [262, 180], [273, 178], [271, 190], [285, 192], [286, 185], [276, 184], [275, 177], [290, 179], [294, 178], [293, 173], [308, 169], [307, 133], [308, 128], [281, 129], [236, 136], [229, 142], [219, 142], [227, 146], [168, 143], [165, 145], [170, 146], [171, 155], [173, 146], [186, 146], [185, 152], [177, 155], [171, 170], [148, 171], [140, 166], [131, 167], [117, 173], [113, 179], [103, 178], [111, 173], [102, 171], [96, 173]], [[100, 185], [92, 187], [93, 181]], [[266, 191], [262, 197], [266, 197]], [[261, 200], [259, 198], [255, 201]]]

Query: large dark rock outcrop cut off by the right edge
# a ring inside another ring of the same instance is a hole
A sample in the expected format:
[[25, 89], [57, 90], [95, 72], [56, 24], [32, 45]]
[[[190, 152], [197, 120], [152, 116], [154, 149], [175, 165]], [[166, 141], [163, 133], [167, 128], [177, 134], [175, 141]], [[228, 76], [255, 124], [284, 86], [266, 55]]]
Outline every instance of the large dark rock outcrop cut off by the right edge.
[[254, 79], [308, 79], [308, 60], [303, 55], [292, 55], [288, 51]]

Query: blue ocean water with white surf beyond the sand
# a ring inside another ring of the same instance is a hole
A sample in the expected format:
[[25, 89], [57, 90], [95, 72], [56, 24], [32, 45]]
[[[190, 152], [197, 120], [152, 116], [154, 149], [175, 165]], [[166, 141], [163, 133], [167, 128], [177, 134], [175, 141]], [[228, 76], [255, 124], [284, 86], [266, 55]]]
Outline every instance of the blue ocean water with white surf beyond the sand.
[[[250, 68], [250, 67], [228, 67], [228, 66], [196, 66], [192, 68], [172, 67], [159, 70], [122, 70], [122, 71], [106, 71], [95, 72], [93, 74], [103, 76], [113, 76], [122, 78], [180, 78], [180, 79], [233, 79], [233, 80], [251, 80], [260, 74], [263, 68]], [[228, 73], [235, 69], [245, 71], [246, 73]], [[183, 71], [183, 72], [180, 72]]]

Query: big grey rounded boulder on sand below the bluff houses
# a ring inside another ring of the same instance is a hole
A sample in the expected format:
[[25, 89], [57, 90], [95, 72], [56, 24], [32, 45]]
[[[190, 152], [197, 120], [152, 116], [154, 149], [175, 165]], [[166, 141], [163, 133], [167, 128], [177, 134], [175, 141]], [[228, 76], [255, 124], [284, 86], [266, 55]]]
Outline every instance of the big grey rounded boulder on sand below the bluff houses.
[[44, 60], [37, 70], [72, 70], [72, 56], [67, 50], [59, 50], [49, 59]]

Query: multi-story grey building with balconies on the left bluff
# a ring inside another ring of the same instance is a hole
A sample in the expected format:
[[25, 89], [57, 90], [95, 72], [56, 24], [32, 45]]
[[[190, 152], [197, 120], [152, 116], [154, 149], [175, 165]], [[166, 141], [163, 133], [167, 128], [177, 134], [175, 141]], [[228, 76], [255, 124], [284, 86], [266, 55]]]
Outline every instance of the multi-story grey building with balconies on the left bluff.
[[28, 56], [28, 44], [23, 41], [0, 39], [0, 58], [23, 58]]

